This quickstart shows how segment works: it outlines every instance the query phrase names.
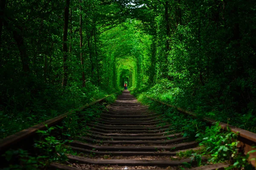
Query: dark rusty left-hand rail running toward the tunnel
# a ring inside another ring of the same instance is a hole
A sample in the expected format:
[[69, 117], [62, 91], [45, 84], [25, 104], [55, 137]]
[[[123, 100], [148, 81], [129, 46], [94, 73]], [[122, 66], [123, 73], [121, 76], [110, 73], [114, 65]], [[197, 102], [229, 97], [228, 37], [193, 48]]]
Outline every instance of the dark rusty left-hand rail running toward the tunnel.
[[[117, 94], [118, 92], [114, 93], [114, 94]], [[108, 96], [111, 96], [111, 95], [114, 95], [114, 94], [110, 94]], [[29, 136], [32, 136], [36, 133], [37, 130], [42, 130], [44, 129], [47, 125], [48, 127], [51, 127], [53, 125], [56, 125], [57, 123], [61, 122], [65, 117], [73, 114], [73, 113], [76, 113], [76, 111], [81, 111], [83, 110], [84, 108], [90, 106], [90, 105], [93, 105], [95, 103], [98, 103], [98, 102], [101, 102], [102, 100], [104, 100], [105, 98], [107, 98], [108, 96], [105, 96], [103, 97], [102, 99], [99, 99], [99, 100], [96, 100], [94, 102], [91, 102], [87, 105], [84, 105], [80, 108], [77, 108], [77, 109], [73, 109], [69, 112], [66, 112], [64, 114], [61, 114], [60, 116], [57, 116], [57, 117], [54, 117], [52, 119], [49, 119], [45, 122], [42, 122], [42, 123], [39, 123], [35, 126], [32, 126], [32, 127], [29, 127], [27, 129], [24, 129], [24, 130], [21, 130], [20, 132], [17, 132], [13, 135], [10, 135], [10, 136], [7, 136], [6, 138], [4, 139], [0, 139], [0, 153], [3, 153], [4, 151], [8, 150], [10, 147], [12, 147], [13, 144], [17, 144], [18, 142], [20, 142], [21, 140], [23, 139], [26, 139], [27, 137]]]

